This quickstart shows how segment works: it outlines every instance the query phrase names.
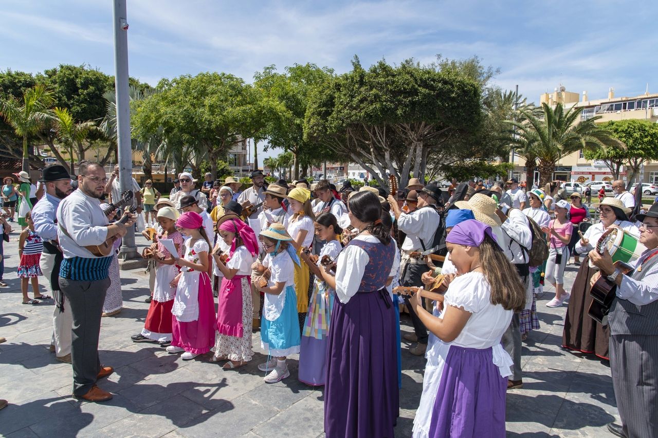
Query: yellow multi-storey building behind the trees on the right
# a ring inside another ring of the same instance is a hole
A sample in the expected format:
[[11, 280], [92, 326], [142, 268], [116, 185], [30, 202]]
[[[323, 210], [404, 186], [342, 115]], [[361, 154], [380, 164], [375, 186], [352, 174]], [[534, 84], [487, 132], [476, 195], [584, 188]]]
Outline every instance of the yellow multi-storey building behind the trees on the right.
[[[567, 91], [565, 87], [556, 87], [553, 93], [544, 93], [540, 97], [540, 103], [547, 103], [555, 107], [558, 103], [565, 106], [565, 110], [572, 107], [583, 108], [580, 114], [581, 120], [587, 120], [594, 116], [601, 116], [599, 122], [609, 120], [645, 119], [658, 123], [658, 94], [644, 93], [635, 97], [615, 97], [615, 90], [609, 89], [606, 99], [590, 100], [587, 91], [578, 93]], [[526, 179], [525, 161], [514, 157], [515, 169], [513, 174], [519, 181]], [[625, 170], [622, 170], [620, 178], [626, 178]], [[644, 164], [640, 178], [642, 182], [658, 183], [658, 162], [647, 162]], [[553, 180], [562, 181], [610, 181], [612, 176], [610, 170], [599, 160], [586, 160], [582, 151], [565, 155], [555, 164]], [[538, 175], [536, 174], [536, 180]]]

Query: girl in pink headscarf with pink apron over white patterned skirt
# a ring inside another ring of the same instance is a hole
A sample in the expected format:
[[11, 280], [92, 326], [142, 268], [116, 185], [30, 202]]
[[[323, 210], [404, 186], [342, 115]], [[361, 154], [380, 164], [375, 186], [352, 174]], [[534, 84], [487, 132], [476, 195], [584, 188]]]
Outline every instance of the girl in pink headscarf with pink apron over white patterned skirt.
[[218, 226], [220, 237], [231, 249], [222, 262], [213, 252], [217, 268], [224, 274], [219, 289], [217, 338], [212, 362], [226, 360], [225, 370], [238, 368], [251, 360], [251, 264], [258, 253], [254, 231], [238, 218], [224, 220]]

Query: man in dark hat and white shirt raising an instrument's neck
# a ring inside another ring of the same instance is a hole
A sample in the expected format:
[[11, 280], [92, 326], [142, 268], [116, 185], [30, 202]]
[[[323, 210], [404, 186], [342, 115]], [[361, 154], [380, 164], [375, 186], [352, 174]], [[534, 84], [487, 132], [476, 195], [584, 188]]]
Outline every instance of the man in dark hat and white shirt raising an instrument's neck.
[[[409, 214], [403, 214], [395, 202], [395, 198], [388, 195], [388, 203], [395, 214], [397, 229], [407, 234], [401, 247], [404, 268], [400, 278], [401, 284], [404, 286], [422, 285], [420, 277], [427, 270], [427, 265], [420, 253], [434, 246], [436, 233], [443, 234], [441, 217], [437, 211], [437, 204], [442, 199], [441, 189], [438, 185], [428, 184], [417, 193], [418, 209]], [[427, 329], [417, 314], [413, 312], [408, 299], [405, 299], [405, 302], [410, 309], [411, 322], [415, 331], [414, 334], [405, 335], [405, 339], [418, 342], [415, 347], [409, 349], [409, 352], [421, 356], [427, 349]]]

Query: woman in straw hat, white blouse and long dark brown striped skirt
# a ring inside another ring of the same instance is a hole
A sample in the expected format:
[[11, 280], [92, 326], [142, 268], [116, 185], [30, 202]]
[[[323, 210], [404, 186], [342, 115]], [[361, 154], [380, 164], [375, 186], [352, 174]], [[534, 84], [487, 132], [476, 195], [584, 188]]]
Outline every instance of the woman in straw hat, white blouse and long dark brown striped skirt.
[[[593, 206], [599, 208], [601, 222], [585, 231], [583, 238], [576, 243], [576, 253], [587, 255], [594, 249], [594, 245], [603, 232], [611, 226], [618, 226], [635, 237], [640, 237], [640, 230], [628, 222], [626, 214], [630, 212], [630, 208], [624, 207], [619, 199], [606, 197]], [[562, 334], [562, 346], [581, 353], [594, 353], [601, 358], [608, 359], [610, 330], [608, 326], [601, 326], [588, 315], [592, 303], [590, 278], [597, 272], [595, 268], [590, 268], [589, 260], [588, 256], [584, 258], [571, 287], [565, 328]]]

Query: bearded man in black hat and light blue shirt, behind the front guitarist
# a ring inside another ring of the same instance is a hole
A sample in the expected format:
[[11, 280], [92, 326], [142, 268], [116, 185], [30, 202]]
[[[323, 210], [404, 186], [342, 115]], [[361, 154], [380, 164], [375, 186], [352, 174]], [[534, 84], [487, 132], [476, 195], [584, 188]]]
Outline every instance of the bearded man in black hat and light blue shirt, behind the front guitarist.
[[[43, 251], [39, 266], [50, 283], [55, 297], [53, 314], [53, 338], [51, 351], [60, 362], [71, 363], [71, 325], [73, 318], [68, 306], [64, 306], [64, 295], [59, 289], [59, 266], [64, 256], [57, 243], [57, 207], [62, 199], [73, 191], [71, 177], [64, 166], [55, 164], [43, 169], [41, 180], [45, 185], [45, 196], [32, 208], [34, 231], [43, 238]], [[55, 276], [53, 276], [55, 271]]]

